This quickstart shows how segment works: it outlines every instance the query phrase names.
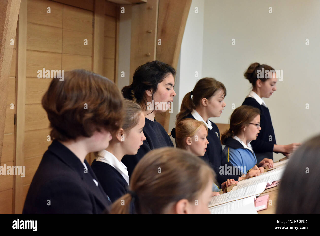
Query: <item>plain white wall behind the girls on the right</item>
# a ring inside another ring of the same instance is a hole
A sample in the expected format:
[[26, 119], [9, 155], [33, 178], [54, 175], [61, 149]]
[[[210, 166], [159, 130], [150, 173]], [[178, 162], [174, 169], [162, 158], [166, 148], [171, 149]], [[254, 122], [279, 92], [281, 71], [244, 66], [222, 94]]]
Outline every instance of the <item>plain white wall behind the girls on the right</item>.
[[[194, 13], [195, 6], [199, 7], [198, 14]], [[269, 7], [273, 13], [268, 13]], [[319, 12], [318, 0], [193, 0], [178, 68], [179, 109], [183, 96], [196, 83], [194, 71], [199, 70], [197, 79], [213, 77], [226, 86], [227, 106], [221, 117], [212, 120], [228, 123], [232, 103], [240, 106], [251, 90], [243, 76], [245, 70], [250, 63], [266, 63], [284, 70], [277, 91], [265, 99], [277, 143], [301, 142], [320, 133]], [[274, 155], [275, 160], [281, 157]]]

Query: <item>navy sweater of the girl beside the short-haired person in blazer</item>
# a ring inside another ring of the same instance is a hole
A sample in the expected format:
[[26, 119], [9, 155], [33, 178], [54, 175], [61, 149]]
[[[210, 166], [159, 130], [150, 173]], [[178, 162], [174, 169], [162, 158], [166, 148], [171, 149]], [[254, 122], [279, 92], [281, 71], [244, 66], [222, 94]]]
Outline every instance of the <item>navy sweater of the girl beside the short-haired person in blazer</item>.
[[102, 161], [93, 160], [91, 168], [112, 203], [128, 192], [127, 181], [125, 181], [124, 177], [111, 165]]

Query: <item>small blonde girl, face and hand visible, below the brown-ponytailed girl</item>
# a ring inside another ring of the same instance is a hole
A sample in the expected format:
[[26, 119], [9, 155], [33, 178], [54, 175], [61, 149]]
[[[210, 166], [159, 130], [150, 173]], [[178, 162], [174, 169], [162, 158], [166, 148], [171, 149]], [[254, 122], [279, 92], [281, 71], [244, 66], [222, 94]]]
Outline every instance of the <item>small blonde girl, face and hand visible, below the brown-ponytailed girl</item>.
[[[196, 119], [183, 119], [180, 121], [172, 132], [172, 137], [175, 138], [176, 147], [185, 149], [196, 156], [204, 156], [206, 152], [207, 144], [209, 143], [206, 139], [208, 135], [208, 127], [203, 121]], [[221, 189], [216, 183], [212, 187], [212, 195], [219, 195], [218, 192], [224, 191], [226, 186], [231, 184], [237, 184], [238, 181], [234, 179], [228, 179], [221, 184]]]

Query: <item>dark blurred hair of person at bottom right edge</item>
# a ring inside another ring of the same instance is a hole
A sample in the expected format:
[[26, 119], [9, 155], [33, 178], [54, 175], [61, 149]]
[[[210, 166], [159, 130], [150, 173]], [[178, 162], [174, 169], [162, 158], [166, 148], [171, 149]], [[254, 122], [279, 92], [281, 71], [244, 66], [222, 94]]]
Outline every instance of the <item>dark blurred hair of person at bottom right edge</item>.
[[317, 135], [290, 157], [280, 183], [276, 214], [319, 214], [319, 144]]

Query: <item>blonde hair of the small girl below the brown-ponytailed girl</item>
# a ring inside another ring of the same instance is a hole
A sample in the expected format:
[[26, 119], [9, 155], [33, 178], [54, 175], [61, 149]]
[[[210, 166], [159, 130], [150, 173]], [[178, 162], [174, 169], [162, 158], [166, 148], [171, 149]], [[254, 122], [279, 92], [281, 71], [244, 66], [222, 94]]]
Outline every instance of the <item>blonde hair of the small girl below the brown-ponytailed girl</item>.
[[196, 132], [200, 129], [201, 125], [204, 125], [208, 135], [208, 127], [205, 125], [203, 121], [198, 121], [191, 118], [181, 120], [175, 128], [176, 147], [186, 149], [186, 138], [193, 137], [196, 134]]

